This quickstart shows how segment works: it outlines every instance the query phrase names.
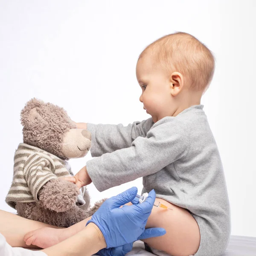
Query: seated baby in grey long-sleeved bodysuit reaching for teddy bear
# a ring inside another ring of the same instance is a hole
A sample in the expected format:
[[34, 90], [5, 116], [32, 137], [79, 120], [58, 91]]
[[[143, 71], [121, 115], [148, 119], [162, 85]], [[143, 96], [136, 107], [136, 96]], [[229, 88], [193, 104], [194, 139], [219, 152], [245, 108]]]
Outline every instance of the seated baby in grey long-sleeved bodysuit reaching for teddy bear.
[[[230, 237], [226, 182], [201, 97], [214, 73], [209, 49], [177, 32], [146, 47], [137, 61], [140, 102], [151, 118], [124, 127], [77, 123], [92, 134], [91, 154], [70, 181], [93, 182], [99, 191], [143, 177], [143, 193], [157, 201], [146, 228], [166, 235], [145, 239], [146, 248], [172, 256], [220, 256]], [[25, 236], [26, 244], [48, 247], [79, 232], [88, 219], [65, 230], [44, 228]]]

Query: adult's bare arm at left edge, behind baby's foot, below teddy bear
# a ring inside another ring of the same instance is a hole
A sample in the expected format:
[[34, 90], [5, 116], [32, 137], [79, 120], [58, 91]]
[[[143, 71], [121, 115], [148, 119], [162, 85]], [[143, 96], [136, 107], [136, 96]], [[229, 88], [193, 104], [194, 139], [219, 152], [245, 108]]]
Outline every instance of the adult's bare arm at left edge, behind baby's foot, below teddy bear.
[[13, 247], [28, 247], [24, 242], [26, 233], [42, 227], [54, 226], [39, 221], [31, 221], [13, 213], [0, 210], [0, 233], [3, 234], [6, 241]]

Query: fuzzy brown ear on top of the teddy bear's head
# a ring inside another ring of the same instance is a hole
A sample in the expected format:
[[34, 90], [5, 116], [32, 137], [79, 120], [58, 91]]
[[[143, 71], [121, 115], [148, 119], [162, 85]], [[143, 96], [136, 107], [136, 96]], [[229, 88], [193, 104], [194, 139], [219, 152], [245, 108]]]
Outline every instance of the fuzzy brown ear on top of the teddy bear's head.
[[41, 116], [37, 111], [37, 108], [41, 108], [45, 103], [38, 99], [31, 99], [28, 101], [20, 113], [20, 120], [23, 126], [26, 124], [31, 124], [31, 122], [35, 122], [37, 119], [40, 119]]

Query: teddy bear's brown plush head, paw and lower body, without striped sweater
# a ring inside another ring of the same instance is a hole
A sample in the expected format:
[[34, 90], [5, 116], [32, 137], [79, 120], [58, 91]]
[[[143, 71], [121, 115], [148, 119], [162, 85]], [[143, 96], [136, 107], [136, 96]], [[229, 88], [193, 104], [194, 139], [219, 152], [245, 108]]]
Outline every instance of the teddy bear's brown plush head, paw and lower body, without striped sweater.
[[[21, 111], [23, 142], [36, 146], [57, 157], [83, 157], [90, 150], [91, 135], [76, 129], [67, 112], [51, 103], [31, 99]], [[91, 209], [90, 196], [84, 193], [85, 205], [76, 205], [79, 189], [65, 180], [49, 180], [38, 193], [38, 203], [16, 203], [17, 214], [58, 227], [69, 227], [91, 216], [102, 201]]]

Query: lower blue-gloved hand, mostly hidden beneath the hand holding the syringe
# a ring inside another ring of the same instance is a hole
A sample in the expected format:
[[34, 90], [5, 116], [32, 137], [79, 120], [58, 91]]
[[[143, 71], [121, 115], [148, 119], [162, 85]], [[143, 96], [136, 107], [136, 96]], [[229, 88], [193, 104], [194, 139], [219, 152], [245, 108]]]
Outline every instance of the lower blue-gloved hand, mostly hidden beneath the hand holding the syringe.
[[[166, 233], [165, 229], [163, 228], [148, 228], [137, 238], [140, 239], [147, 239], [155, 236], [163, 236]], [[128, 252], [131, 251], [133, 243], [124, 244], [114, 248], [102, 249], [100, 250], [97, 255], [100, 256], [125, 256]]]

